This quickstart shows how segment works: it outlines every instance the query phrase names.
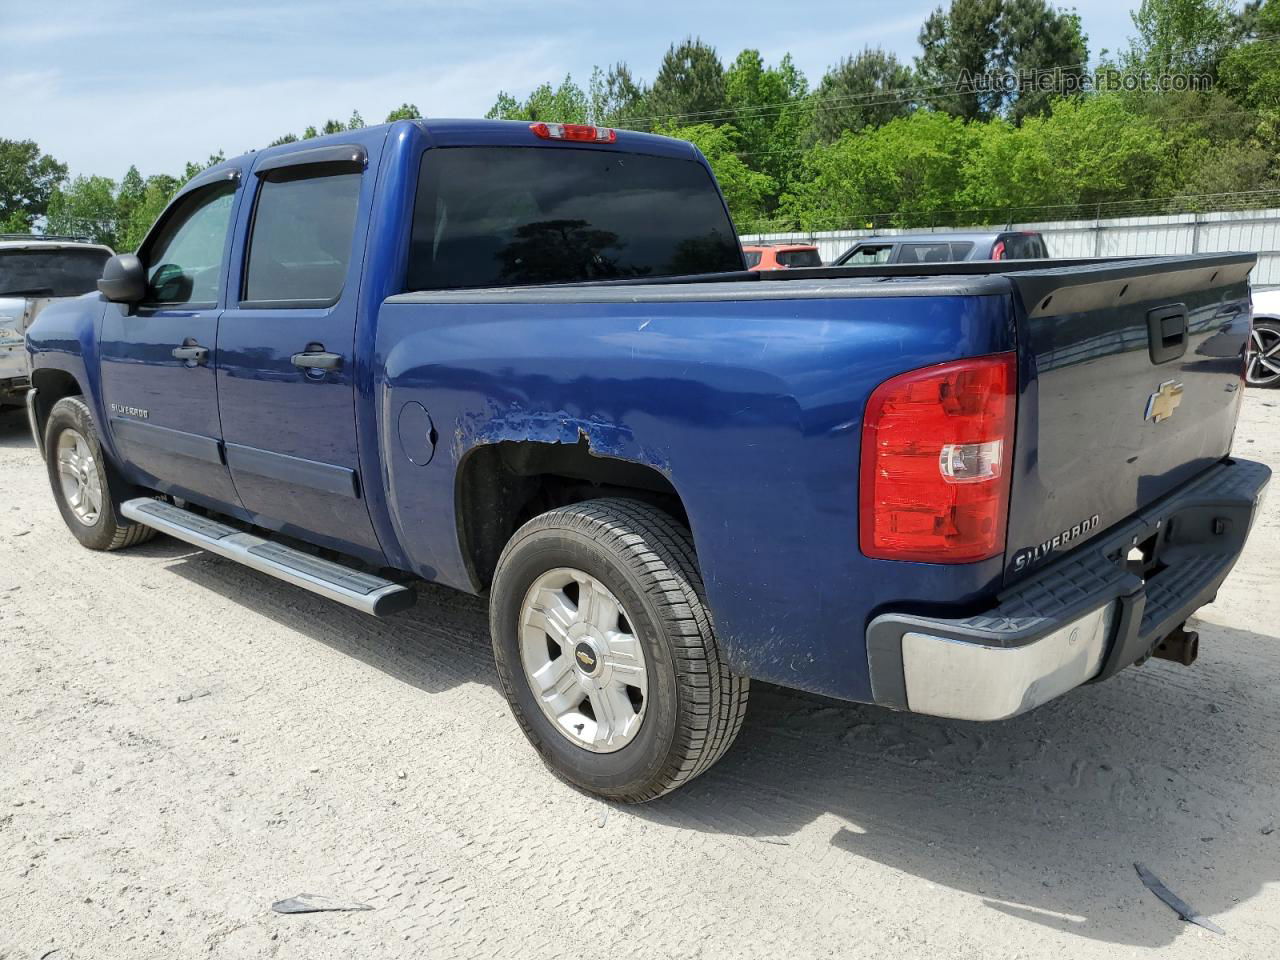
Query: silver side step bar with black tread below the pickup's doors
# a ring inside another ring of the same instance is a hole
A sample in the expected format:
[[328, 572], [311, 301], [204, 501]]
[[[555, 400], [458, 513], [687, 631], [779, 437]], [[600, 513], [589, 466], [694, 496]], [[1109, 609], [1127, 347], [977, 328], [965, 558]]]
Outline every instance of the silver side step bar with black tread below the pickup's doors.
[[310, 553], [246, 534], [227, 524], [174, 507], [164, 500], [140, 497], [120, 504], [120, 512], [136, 524], [202, 547], [246, 567], [270, 573], [303, 590], [385, 617], [413, 605], [413, 591], [390, 580], [333, 563]]

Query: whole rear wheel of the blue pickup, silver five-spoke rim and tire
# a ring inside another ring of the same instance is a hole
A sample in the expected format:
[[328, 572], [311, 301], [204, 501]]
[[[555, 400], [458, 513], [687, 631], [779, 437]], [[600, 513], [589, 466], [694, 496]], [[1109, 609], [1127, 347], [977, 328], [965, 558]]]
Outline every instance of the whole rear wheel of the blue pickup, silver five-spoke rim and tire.
[[489, 617], [516, 719], [584, 790], [653, 800], [737, 736], [748, 680], [721, 659], [689, 531], [653, 507], [588, 500], [525, 524]]

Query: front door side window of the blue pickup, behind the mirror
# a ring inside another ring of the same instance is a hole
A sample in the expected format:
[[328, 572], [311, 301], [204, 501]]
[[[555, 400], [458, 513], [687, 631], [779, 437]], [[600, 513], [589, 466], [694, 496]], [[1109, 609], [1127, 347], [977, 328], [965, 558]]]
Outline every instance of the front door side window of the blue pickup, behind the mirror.
[[236, 184], [230, 182], [195, 191], [160, 225], [142, 256], [148, 306], [218, 303], [234, 196]]

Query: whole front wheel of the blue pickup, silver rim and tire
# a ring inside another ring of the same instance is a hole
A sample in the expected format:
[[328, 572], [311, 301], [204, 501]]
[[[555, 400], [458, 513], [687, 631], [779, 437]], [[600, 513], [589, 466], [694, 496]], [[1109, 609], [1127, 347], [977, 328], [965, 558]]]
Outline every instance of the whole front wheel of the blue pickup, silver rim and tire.
[[151, 527], [120, 516], [120, 503], [136, 492], [102, 456], [93, 413], [79, 397], [64, 397], [50, 411], [45, 458], [54, 500], [81, 544], [91, 550], [116, 550], [155, 535]]

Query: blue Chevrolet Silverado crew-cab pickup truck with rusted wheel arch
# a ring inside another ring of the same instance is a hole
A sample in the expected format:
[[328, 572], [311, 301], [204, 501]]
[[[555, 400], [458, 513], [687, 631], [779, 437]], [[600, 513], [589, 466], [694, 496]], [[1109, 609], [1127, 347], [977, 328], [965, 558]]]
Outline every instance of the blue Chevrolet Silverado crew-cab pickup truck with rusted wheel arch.
[[1268, 481], [1251, 255], [749, 273], [689, 143], [403, 120], [221, 163], [28, 334], [88, 548], [488, 596], [553, 771], [643, 801], [749, 678], [957, 719], [1190, 663]]

